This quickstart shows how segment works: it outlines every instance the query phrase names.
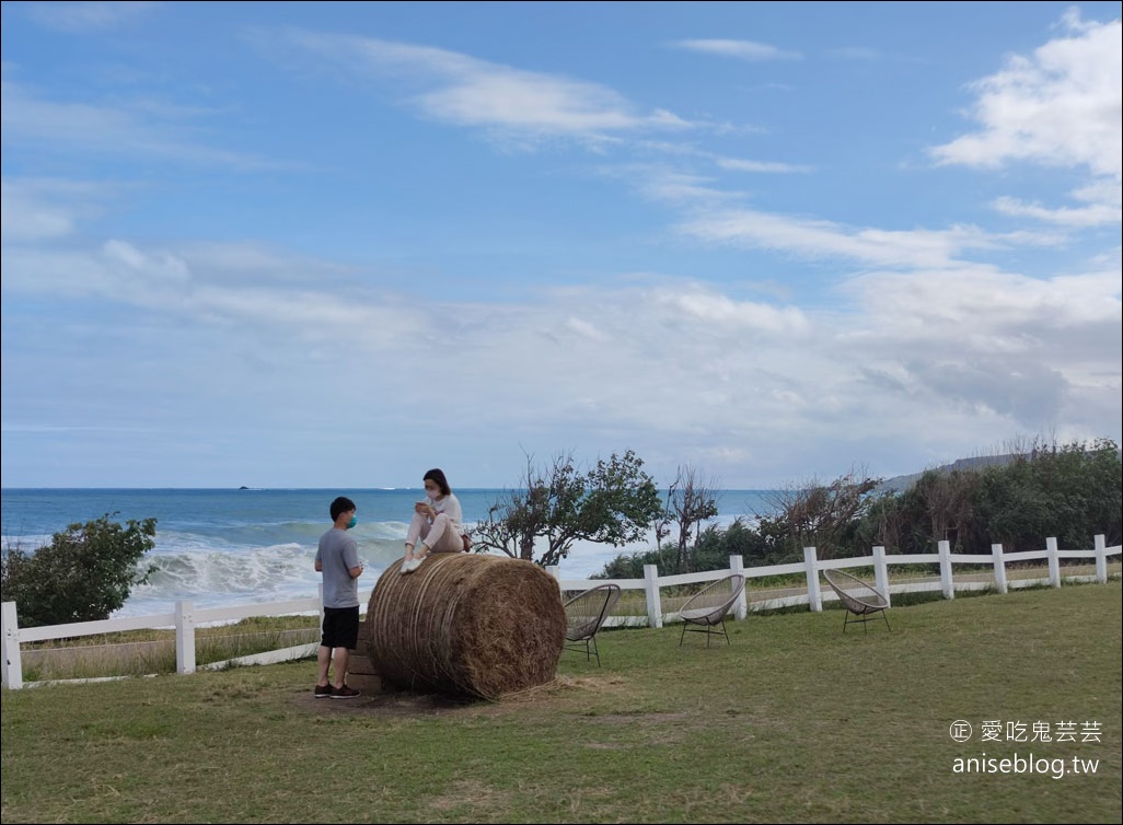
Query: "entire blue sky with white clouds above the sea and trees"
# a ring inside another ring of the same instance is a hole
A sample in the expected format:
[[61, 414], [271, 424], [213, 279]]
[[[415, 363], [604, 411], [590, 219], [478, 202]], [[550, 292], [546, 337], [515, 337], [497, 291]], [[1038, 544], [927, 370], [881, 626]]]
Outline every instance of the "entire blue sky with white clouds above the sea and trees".
[[2, 7], [2, 485], [1121, 440], [1120, 3]]

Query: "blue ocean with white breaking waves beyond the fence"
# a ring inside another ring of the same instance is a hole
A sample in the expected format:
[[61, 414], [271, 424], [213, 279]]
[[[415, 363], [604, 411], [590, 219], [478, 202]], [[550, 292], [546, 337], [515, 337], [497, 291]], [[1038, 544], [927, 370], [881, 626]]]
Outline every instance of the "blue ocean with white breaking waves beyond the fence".
[[[454, 489], [471, 525], [487, 515], [501, 489]], [[147, 584], [133, 588], [115, 616], [167, 613], [180, 599], [198, 607], [281, 602], [317, 594], [312, 567], [320, 534], [331, 525], [337, 495], [357, 506], [358, 541], [366, 571], [359, 592], [369, 593], [382, 571], [403, 552], [405, 528], [420, 487], [395, 489], [3, 489], [3, 548], [34, 550], [67, 525], [107, 513], [125, 522], [156, 519], [156, 566]], [[719, 491], [719, 524], [767, 510], [764, 491]], [[649, 550], [654, 540], [613, 548], [583, 542], [562, 565], [565, 578], [586, 578], [620, 553]], [[360, 596], [362, 597], [362, 596]]]

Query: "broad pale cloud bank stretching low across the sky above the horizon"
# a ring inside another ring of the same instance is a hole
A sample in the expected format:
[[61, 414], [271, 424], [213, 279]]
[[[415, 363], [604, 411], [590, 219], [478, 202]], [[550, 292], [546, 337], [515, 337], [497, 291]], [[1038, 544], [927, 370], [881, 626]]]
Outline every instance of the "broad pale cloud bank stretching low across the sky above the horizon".
[[[982, 266], [868, 274], [844, 286], [850, 309], [812, 312], [637, 276], [519, 304], [419, 305], [363, 288], [344, 300], [322, 290], [318, 273], [331, 267], [218, 245], [20, 249], [4, 254], [4, 303], [98, 294], [116, 317], [138, 319], [113, 336], [150, 329], [181, 342], [162, 356], [168, 381], [203, 368], [199, 347], [229, 352], [226, 377], [214, 365], [191, 392], [225, 404], [235, 382], [239, 397], [275, 400], [275, 411], [256, 407], [263, 428], [314, 420], [308, 388], [343, 370], [348, 402], [332, 411], [343, 430], [380, 421], [408, 441], [414, 429], [444, 430], [455, 411], [458, 438], [476, 449], [626, 443], [656, 471], [704, 460], [733, 485], [798, 467], [842, 473], [895, 439], [987, 444], [1050, 420], [1105, 434], [1096, 422], [1117, 416], [1106, 398], [1117, 406], [1123, 312], [1110, 269], [1048, 281]], [[65, 345], [76, 332], [53, 334]], [[89, 348], [69, 368], [82, 369]]]

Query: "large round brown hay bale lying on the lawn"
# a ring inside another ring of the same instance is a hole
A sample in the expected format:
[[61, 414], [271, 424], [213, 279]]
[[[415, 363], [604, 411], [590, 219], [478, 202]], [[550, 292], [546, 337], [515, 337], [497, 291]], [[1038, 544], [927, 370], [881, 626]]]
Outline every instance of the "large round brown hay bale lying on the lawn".
[[382, 574], [366, 622], [383, 681], [495, 699], [554, 679], [566, 618], [557, 580], [530, 561], [433, 553]]

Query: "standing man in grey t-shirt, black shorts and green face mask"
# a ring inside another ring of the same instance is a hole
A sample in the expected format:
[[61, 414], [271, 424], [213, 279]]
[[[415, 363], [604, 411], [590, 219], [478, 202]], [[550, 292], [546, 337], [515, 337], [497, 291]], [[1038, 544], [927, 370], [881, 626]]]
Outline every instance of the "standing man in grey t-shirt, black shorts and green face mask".
[[[339, 496], [331, 502], [331, 529], [320, 537], [316, 551], [316, 570], [323, 575], [323, 635], [317, 656], [319, 679], [313, 695], [317, 699], [353, 699], [359, 695], [347, 687], [347, 659], [358, 643], [358, 583], [363, 562], [358, 544], [347, 534], [355, 526], [355, 502]], [[336, 666], [336, 684], [328, 679], [331, 663]]]

